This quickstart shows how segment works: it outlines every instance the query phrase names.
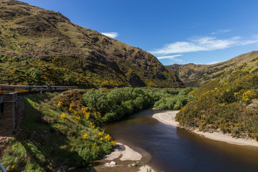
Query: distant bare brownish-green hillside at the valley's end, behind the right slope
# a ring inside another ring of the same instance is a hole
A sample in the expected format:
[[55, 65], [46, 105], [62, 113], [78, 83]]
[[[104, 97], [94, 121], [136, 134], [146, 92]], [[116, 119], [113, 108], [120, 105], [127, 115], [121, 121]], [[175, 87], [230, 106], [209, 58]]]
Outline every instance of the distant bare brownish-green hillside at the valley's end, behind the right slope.
[[244, 63], [249, 63], [257, 56], [258, 51], [252, 51], [241, 54], [230, 60], [211, 65], [188, 63], [183, 65], [168, 65], [166, 68], [174, 71], [176, 75], [178, 75], [179, 79], [187, 86], [199, 87], [235, 67], [243, 65]]

